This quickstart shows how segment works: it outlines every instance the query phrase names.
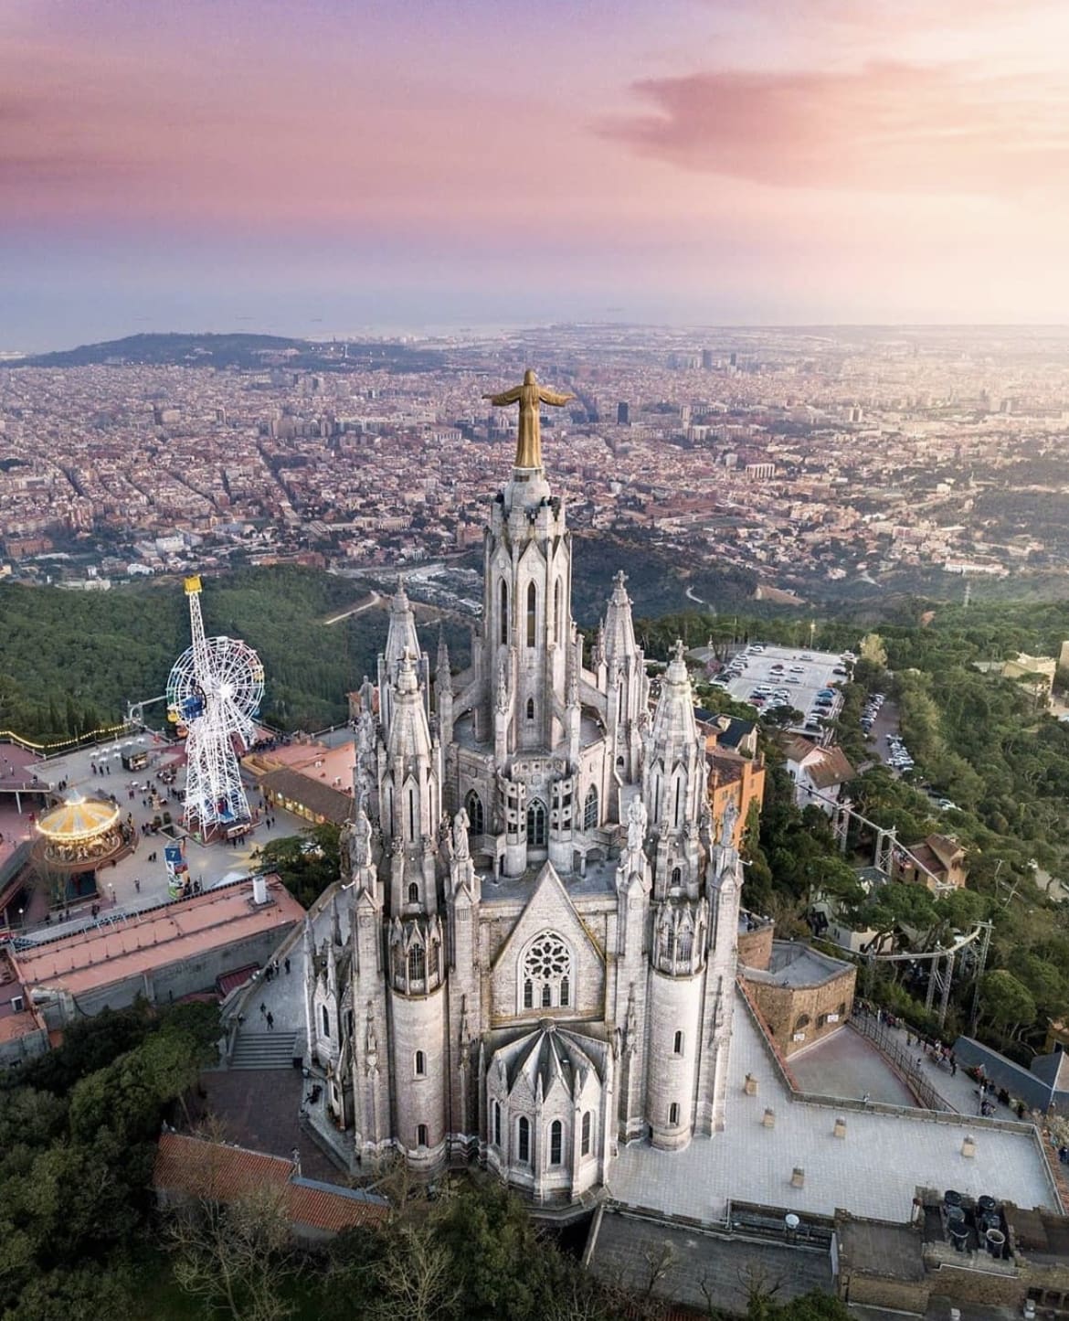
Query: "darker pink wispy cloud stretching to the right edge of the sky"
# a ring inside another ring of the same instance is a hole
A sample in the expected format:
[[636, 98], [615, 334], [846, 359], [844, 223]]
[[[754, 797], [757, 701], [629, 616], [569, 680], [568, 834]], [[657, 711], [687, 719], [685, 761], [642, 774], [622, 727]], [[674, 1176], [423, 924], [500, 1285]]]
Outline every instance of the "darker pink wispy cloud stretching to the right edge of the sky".
[[973, 193], [1069, 188], [1064, 86], [966, 66], [644, 79], [653, 114], [603, 125], [690, 170], [783, 188]]

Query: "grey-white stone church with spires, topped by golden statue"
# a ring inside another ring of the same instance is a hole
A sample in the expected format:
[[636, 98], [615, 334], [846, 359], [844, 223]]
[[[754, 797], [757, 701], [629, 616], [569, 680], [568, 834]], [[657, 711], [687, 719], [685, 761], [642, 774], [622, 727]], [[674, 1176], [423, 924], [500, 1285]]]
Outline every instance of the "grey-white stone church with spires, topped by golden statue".
[[681, 643], [651, 694], [623, 573], [585, 655], [538, 425], [570, 396], [528, 371], [490, 398], [520, 427], [471, 666], [439, 643], [432, 671], [400, 587], [305, 1020], [364, 1164], [478, 1161], [567, 1205], [620, 1144], [723, 1127], [742, 822], [711, 819]]

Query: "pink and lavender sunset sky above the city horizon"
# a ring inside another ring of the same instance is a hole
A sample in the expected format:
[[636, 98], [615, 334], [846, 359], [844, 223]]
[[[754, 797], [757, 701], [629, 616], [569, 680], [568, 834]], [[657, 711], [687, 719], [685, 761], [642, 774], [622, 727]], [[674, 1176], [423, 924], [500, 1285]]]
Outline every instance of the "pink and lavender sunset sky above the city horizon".
[[0, 0], [0, 350], [1069, 320], [1066, 0]]

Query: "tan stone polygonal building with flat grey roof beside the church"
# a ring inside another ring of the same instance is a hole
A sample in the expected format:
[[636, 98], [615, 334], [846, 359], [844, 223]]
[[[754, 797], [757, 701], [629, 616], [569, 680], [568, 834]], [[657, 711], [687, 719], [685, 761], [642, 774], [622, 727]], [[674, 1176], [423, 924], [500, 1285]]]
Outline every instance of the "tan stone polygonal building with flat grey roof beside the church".
[[[760, 956], [761, 946], [754, 951]], [[764, 968], [740, 966], [739, 972], [785, 1057], [837, 1032], [854, 1008], [854, 964], [805, 945], [773, 941]]]

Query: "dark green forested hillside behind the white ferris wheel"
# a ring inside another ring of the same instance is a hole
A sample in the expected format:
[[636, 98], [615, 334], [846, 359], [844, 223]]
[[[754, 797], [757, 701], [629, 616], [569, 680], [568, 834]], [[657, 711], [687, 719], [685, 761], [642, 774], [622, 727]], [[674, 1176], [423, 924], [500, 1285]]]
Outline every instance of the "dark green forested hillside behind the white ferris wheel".
[[[347, 719], [346, 694], [375, 674], [385, 642], [384, 610], [323, 622], [363, 594], [317, 569], [249, 568], [206, 577], [201, 609], [210, 637], [242, 638], [260, 654], [265, 721], [325, 729]], [[91, 593], [4, 584], [0, 620], [0, 731], [38, 741], [112, 725], [128, 703], [162, 695], [190, 641], [181, 580]], [[467, 654], [467, 629], [447, 624], [445, 635]], [[146, 717], [162, 723], [162, 703]]]

